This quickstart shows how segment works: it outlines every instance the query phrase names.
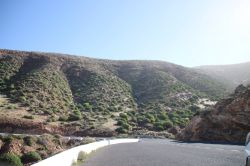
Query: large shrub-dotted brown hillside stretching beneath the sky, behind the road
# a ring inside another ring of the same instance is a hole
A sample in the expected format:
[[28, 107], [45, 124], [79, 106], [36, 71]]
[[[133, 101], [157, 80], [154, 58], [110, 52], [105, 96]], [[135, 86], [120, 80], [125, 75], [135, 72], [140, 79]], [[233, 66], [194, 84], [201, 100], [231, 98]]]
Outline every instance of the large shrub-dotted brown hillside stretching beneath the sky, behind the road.
[[210, 76], [168, 62], [0, 50], [1, 132], [166, 131], [225, 93]]

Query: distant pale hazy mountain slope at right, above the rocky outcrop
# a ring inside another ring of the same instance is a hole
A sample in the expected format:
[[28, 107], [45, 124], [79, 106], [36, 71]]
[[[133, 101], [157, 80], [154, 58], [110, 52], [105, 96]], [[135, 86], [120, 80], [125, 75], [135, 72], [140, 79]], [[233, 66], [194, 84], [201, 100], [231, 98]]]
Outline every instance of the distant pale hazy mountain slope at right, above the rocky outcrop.
[[232, 65], [199, 66], [195, 69], [225, 84], [231, 91], [240, 84], [247, 85], [250, 83], [250, 62]]

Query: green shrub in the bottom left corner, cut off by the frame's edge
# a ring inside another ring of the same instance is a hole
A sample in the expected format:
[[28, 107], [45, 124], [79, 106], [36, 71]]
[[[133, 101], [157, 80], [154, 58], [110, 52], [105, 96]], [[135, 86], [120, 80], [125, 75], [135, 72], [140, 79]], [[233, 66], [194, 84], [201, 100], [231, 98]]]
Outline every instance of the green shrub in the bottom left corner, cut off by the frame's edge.
[[4, 153], [0, 156], [0, 162], [10, 166], [23, 166], [20, 158], [14, 153]]

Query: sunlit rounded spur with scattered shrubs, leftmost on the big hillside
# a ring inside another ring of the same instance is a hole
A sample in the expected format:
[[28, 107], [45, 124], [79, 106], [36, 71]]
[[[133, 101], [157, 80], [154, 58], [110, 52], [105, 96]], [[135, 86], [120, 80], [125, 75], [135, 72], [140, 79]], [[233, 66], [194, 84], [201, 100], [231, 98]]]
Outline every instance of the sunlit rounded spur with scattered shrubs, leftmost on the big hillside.
[[10, 97], [36, 113], [62, 113], [73, 105], [71, 90], [63, 73], [51, 64], [23, 74], [13, 80]]

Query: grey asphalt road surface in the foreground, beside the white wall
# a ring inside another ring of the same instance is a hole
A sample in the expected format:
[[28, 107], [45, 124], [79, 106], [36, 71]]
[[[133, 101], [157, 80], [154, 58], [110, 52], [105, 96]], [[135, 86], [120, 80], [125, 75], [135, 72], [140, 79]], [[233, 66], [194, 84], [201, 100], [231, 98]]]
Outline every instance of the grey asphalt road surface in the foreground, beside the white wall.
[[101, 148], [83, 166], [244, 166], [243, 149], [239, 145], [143, 139]]

